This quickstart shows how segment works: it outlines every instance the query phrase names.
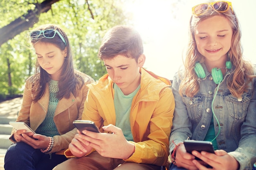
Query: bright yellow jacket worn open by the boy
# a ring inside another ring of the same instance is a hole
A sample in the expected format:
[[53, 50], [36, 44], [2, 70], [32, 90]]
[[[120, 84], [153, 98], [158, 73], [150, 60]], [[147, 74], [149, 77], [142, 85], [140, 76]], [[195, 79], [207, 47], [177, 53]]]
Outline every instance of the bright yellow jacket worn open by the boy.
[[[135, 152], [125, 161], [166, 166], [169, 155], [169, 136], [172, 128], [174, 97], [168, 79], [141, 68], [141, 88], [132, 100], [130, 126]], [[115, 125], [113, 82], [104, 75], [89, 84], [82, 119], [102, 126]], [[67, 157], [71, 152], [65, 152]]]

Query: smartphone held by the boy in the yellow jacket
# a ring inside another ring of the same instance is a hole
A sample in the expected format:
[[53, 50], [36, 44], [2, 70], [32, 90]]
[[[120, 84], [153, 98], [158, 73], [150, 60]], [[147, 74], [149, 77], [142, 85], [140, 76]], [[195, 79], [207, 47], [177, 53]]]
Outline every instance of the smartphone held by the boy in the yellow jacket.
[[73, 121], [74, 126], [83, 133], [83, 130], [89, 130], [92, 132], [100, 132], [99, 128], [90, 120], [75, 120]]

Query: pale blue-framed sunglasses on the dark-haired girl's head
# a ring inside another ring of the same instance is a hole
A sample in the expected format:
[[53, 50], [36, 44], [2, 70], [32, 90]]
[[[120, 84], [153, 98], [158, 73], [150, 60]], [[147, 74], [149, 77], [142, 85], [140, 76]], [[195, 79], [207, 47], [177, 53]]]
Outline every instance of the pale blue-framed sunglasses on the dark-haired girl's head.
[[30, 37], [32, 39], [36, 39], [38, 38], [41, 34], [43, 34], [43, 36], [45, 38], [54, 38], [56, 33], [58, 34], [58, 36], [61, 38], [61, 40], [65, 43], [65, 45], [67, 46], [67, 43], [65, 41], [65, 39], [63, 38], [63, 36], [61, 35], [61, 33], [59, 33], [56, 29], [46, 29], [46, 30], [38, 30], [38, 31], [33, 31], [30, 33]]

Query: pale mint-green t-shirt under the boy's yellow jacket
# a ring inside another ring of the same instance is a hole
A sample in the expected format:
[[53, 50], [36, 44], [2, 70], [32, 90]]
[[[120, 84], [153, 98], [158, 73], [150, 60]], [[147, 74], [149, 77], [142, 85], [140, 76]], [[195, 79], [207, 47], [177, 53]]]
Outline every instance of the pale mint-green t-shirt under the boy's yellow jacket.
[[132, 131], [130, 126], [130, 110], [132, 105], [132, 99], [139, 91], [140, 85], [136, 88], [135, 91], [130, 93], [129, 95], [124, 95], [121, 89], [114, 84], [114, 104], [115, 104], [115, 112], [116, 112], [116, 125], [121, 128], [124, 137], [128, 141], [133, 141]]

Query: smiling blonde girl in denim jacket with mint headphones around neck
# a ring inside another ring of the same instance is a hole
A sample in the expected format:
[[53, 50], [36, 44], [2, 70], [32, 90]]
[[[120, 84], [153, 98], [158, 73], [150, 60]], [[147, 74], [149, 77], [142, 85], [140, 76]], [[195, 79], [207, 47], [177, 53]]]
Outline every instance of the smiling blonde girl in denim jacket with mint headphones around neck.
[[[172, 85], [170, 170], [252, 170], [256, 68], [243, 59], [236, 14], [226, 1], [198, 4], [192, 10], [184, 69]], [[183, 144], [188, 137], [211, 141], [215, 154], [189, 154]]]

